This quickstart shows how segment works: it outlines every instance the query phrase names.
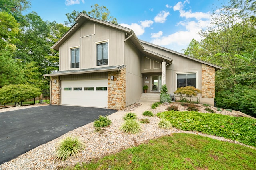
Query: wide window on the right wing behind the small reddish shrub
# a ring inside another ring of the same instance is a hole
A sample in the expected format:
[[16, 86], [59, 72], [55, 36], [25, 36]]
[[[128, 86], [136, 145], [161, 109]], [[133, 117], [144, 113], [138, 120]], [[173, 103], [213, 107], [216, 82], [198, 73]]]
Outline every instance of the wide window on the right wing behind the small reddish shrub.
[[186, 86], [196, 88], [196, 73], [177, 74], [177, 88]]

